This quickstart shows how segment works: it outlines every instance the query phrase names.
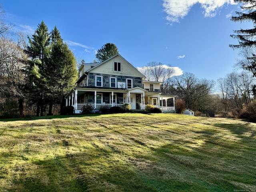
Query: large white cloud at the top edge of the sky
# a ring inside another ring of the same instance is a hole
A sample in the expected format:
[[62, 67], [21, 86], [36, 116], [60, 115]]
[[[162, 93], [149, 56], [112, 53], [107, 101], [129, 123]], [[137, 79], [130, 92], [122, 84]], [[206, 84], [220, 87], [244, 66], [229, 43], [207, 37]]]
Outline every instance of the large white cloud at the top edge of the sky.
[[234, 0], [163, 0], [166, 19], [170, 22], [179, 22], [184, 18], [194, 4], [199, 3], [204, 9], [205, 17], [214, 17], [216, 11], [224, 4], [235, 4]]

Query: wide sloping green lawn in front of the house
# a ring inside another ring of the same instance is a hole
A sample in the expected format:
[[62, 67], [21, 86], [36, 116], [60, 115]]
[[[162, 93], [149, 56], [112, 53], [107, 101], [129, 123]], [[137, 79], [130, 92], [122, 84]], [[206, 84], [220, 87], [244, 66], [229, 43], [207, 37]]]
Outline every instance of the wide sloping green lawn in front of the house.
[[0, 192], [256, 191], [256, 124], [181, 114], [0, 121]]

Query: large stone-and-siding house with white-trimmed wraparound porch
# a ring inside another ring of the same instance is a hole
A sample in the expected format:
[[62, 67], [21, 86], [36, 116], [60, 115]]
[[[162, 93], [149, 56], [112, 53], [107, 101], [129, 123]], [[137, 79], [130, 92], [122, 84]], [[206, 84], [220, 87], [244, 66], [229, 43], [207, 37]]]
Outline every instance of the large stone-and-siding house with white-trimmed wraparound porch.
[[79, 114], [86, 104], [95, 111], [130, 104], [132, 110], [144, 110], [146, 104], [175, 112], [175, 96], [162, 95], [161, 82], [144, 81], [145, 76], [120, 54], [101, 63], [82, 64], [77, 86], [66, 96], [66, 106]]

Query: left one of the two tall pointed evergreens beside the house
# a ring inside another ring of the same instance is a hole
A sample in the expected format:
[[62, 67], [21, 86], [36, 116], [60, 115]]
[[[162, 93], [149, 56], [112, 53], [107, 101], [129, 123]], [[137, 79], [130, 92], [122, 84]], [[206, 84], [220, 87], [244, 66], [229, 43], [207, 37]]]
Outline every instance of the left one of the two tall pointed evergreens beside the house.
[[38, 67], [40, 78], [30, 73], [30, 98], [37, 104], [36, 115], [39, 116], [41, 108], [41, 116], [44, 111], [44, 99], [46, 95], [46, 61], [50, 54], [50, 34], [48, 27], [42, 21], [36, 29], [32, 38], [28, 37], [29, 45], [26, 48], [26, 53], [31, 58], [30, 70], [35, 66]]

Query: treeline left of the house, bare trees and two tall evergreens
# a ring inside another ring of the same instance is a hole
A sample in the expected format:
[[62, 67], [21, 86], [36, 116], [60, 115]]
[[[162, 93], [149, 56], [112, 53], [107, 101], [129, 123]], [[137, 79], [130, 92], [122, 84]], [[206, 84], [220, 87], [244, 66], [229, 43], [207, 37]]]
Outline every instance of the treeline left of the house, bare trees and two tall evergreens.
[[60, 32], [42, 21], [32, 37], [0, 20], [0, 117], [62, 112], [76, 84], [76, 58]]

